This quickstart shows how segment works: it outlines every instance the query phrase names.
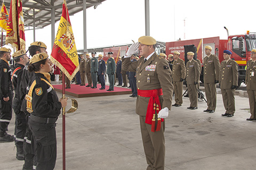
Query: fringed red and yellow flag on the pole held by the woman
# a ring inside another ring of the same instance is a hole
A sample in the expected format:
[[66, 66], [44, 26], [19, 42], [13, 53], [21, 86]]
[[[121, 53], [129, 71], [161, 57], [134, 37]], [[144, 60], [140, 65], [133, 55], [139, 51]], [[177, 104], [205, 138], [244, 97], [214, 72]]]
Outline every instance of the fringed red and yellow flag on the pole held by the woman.
[[79, 71], [76, 43], [66, 1], [62, 5], [62, 15], [52, 48], [51, 61], [60, 68], [69, 80], [72, 80]]

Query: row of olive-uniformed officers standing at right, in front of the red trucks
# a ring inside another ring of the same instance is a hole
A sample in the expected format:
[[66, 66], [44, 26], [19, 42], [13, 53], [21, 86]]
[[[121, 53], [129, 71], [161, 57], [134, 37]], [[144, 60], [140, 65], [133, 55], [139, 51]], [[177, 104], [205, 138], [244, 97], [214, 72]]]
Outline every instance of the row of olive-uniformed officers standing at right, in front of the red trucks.
[[[217, 103], [217, 90], [216, 85], [219, 83], [221, 89], [223, 104], [226, 109], [222, 116], [232, 117], [235, 113], [235, 97], [234, 92], [238, 86], [238, 64], [231, 60], [232, 53], [229, 50], [223, 51], [224, 60], [220, 63], [219, 58], [213, 54], [211, 46], [205, 46], [206, 57], [203, 58], [203, 77], [204, 77], [204, 87], [205, 95], [207, 99], [207, 108], [204, 112], [214, 113]], [[251, 117], [247, 120], [255, 120], [255, 100], [253, 100], [253, 90], [256, 89], [253, 81], [251, 81], [254, 76], [254, 70], [256, 69], [255, 63], [255, 52], [253, 49], [251, 53], [251, 60], [247, 62], [246, 69], [246, 81], [247, 91], [250, 100]], [[161, 54], [160, 54], [161, 55]], [[188, 109], [197, 109], [197, 98], [199, 89], [199, 77], [201, 74], [201, 62], [196, 58], [194, 60], [194, 53], [188, 52], [187, 58], [188, 62], [185, 66], [185, 62], [179, 57], [179, 52], [174, 52], [174, 54], [169, 55], [169, 66], [172, 70], [172, 81], [174, 86], [175, 94], [175, 104], [172, 106], [180, 107], [183, 103], [182, 101], [182, 90], [183, 81], [188, 89], [188, 96], [190, 99], [190, 106]], [[163, 56], [166, 56], [163, 54]], [[255, 82], [256, 83], [256, 82]], [[253, 86], [254, 85], [254, 86]], [[252, 90], [252, 91], [251, 91]]]

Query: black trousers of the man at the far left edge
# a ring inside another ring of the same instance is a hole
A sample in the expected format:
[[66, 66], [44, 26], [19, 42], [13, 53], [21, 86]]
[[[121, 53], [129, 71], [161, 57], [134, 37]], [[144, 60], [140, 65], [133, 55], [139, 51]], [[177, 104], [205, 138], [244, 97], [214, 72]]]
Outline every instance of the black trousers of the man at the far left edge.
[[12, 119], [12, 99], [13, 92], [8, 92], [9, 101], [4, 101], [2, 94], [1, 97], [1, 106], [0, 106], [0, 130], [5, 132], [8, 130], [8, 125]]

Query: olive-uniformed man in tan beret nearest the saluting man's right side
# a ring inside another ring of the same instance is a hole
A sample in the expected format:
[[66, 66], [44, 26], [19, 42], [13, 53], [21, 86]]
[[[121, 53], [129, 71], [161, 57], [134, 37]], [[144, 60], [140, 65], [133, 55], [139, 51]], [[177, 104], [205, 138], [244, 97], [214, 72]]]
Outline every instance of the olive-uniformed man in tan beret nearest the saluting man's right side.
[[172, 106], [179, 107], [182, 105], [182, 90], [183, 90], [183, 81], [185, 79], [186, 68], [185, 62], [180, 59], [180, 53], [173, 53], [173, 67], [172, 67], [172, 80], [175, 94], [175, 104]]

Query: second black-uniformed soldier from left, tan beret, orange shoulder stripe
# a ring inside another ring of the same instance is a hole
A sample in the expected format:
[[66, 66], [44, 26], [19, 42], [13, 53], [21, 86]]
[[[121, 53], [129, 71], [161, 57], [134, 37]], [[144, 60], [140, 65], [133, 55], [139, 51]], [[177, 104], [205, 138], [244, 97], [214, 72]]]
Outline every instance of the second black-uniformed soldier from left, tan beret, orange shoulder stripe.
[[23, 143], [24, 137], [26, 133], [26, 116], [25, 113], [20, 111], [22, 100], [20, 100], [20, 81], [22, 77], [22, 72], [24, 66], [28, 62], [28, 56], [26, 54], [26, 50], [18, 50], [13, 55], [13, 60], [15, 62], [14, 70], [12, 73], [12, 84], [15, 91], [14, 99], [13, 99], [13, 111], [15, 113], [15, 146], [17, 147], [16, 158], [18, 160], [24, 159], [24, 151], [23, 151]]

